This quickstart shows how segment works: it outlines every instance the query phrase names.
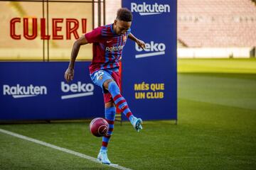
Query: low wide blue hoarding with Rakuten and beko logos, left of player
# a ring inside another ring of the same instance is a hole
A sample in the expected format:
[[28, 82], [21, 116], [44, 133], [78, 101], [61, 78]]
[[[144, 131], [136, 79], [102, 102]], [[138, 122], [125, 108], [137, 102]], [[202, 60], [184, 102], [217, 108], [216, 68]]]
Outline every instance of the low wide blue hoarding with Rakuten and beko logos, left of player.
[[89, 76], [90, 62], [0, 62], [0, 120], [61, 120], [104, 117], [102, 90]]

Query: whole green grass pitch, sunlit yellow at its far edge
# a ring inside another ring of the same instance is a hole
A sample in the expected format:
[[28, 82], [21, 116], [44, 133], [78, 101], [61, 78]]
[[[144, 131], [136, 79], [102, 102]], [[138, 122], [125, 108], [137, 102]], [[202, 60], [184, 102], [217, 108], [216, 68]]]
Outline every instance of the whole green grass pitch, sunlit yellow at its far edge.
[[[116, 123], [110, 160], [129, 169], [256, 169], [256, 60], [178, 60], [178, 72], [178, 125], [144, 121], [137, 133]], [[88, 126], [0, 128], [97, 157], [101, 139]], [[0, 169], [113, 168], [0, 132]]]

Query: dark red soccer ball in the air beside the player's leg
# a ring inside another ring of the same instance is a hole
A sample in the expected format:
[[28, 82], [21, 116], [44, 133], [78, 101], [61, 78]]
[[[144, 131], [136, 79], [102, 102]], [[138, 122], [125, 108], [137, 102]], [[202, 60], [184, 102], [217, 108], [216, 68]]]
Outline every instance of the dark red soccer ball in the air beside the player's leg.
[[95, 118], [90, 123], [90, 131], [96, 137], [102, 137], [107, 134], [109, 124], [104, 118]]

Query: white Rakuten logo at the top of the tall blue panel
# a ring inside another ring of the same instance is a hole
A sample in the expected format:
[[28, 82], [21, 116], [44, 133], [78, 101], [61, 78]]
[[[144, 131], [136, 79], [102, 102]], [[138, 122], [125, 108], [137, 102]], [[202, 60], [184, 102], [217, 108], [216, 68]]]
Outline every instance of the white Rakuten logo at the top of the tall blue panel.
[[138, 12], [141, 16], [156, 15], [170, 12], [170, 6], [169, 4], [146, 4], [146, 2], [136, 4], [132, 2], [131, 11]]

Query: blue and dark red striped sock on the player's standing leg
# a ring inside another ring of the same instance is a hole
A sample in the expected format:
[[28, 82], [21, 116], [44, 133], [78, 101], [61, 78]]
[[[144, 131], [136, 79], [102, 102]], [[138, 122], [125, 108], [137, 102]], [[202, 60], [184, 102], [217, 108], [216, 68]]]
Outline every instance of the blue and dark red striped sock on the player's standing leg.
[[100, 149], [101, 151], [107, 150], [107, 145], [110, 141], [110, 137], [114, 130], [115, 114], [116, 114], [116, 108], [114, 106], [111, 108], [105, 108], [105, 119], [107, 120], [107, 123], [109, 124], [109, 130], [107, 131], [107, 134], [104, 137], [102, 137], [102, 147]]

